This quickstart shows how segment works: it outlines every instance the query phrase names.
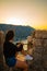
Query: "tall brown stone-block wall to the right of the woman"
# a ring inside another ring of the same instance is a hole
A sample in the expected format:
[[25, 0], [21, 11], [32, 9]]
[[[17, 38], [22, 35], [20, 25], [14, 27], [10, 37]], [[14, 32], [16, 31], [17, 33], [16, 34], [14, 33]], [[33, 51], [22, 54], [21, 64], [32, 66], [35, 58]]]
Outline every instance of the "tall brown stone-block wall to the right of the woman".
[[47, 31], [35, 31], [33, 39], [33, 68], [35, 71], [47, 71]]

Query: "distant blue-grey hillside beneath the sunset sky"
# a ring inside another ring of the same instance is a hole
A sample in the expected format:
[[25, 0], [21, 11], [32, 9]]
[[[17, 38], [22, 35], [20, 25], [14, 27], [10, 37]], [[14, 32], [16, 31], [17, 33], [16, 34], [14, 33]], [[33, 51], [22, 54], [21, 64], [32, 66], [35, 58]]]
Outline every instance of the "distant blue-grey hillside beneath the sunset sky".
[[31, 26], [0, 24], [0, 31], [7, 32], [9, 29], [15, 31], [14, 40], [25, 39], [34, 31]]

